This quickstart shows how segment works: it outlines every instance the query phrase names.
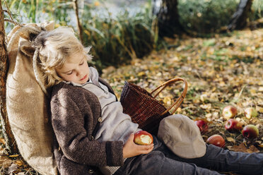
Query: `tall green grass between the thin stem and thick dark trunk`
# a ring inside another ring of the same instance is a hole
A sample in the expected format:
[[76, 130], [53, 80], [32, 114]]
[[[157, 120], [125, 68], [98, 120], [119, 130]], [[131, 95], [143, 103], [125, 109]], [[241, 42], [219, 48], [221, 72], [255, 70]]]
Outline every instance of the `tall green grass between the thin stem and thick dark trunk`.
[[153, 49], [155, 33], [151, 29], [153, 17], [150, 9], [134, 16], [124, 11], [116, 17], [110, 12], [100, 17], [99, 14], [93, 15], [89, 6], [86, 8], [83, 14], [86, 18], [82, 18], [84, 42], [93, 46], [96, 66], [119, 66], [132, 58], [141, 58]]

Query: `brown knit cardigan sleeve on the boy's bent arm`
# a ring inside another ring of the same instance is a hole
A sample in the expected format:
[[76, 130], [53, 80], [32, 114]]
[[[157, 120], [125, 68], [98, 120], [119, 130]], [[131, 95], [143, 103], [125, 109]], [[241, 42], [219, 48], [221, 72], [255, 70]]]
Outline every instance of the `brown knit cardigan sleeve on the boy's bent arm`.
[[[121, 166], [123, 164], [122, 141], [100, 143], [97, 140], [91, 140], [90, 128], [93, 128], [95, 122], [90, 119], [93, 117], [83, 116], [77, 105], [77, 98], [69, 95], [72, 93], [60, 90], [52, 95], [50, 102], [52, 127], [63, 155], [78, 164], [98, 167]], [[87, 114], [93, 115], [91, 109], [86, 108], [90, 111]]]

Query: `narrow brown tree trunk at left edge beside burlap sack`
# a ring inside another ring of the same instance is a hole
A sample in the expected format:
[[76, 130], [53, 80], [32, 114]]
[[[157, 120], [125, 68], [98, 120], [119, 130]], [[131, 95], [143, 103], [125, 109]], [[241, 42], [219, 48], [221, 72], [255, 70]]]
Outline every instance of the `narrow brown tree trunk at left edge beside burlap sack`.
[[0, 1], [0, 116], [2, 131], [4, 139], [6, 140], [6, 148], [9, 152], [18, 152], [13, 133], [8, 121], [6, 112], [6, 75], [8, 70], [8, 54], [5, 43], [5, 30], [4, 30], [4, 11]]

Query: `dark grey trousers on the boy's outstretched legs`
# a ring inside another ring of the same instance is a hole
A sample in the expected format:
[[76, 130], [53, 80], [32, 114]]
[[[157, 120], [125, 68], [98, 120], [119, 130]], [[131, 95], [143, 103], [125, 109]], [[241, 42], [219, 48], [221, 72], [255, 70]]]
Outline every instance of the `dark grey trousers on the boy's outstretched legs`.
[[[213, 169], [213, 170], [211, 170]], [[115, 175], [211, 175], [232, 171], [240, 174], [263, 174], [263, 154], [232, 152], [207, 145], [206, 154], [195, 159], [184, 159], [173, 154], [154, 137], [154, 149], [147, 155], [125, 160]]]

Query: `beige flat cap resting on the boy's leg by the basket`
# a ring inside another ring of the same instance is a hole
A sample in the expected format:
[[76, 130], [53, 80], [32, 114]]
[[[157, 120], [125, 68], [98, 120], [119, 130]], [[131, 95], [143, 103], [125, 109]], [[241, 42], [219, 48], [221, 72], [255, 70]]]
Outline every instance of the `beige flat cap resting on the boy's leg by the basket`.
[[202, 157], [206, 153], [206, 143], [197, 124], [181, 114], [167, 116], [160, 121], [158, 138], [182, 158]]

